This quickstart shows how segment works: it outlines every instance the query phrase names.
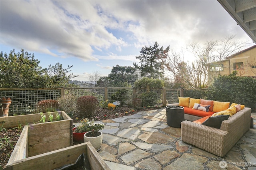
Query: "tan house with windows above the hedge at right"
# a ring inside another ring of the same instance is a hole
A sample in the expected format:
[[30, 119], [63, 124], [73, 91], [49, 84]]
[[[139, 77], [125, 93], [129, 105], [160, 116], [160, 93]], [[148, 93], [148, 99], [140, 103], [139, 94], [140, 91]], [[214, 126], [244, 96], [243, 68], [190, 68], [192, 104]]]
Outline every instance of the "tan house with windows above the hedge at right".
[[226, 57], [223, 61], [209, 63], [209, 76], [230, 75], [256, 78], [256, 45]]

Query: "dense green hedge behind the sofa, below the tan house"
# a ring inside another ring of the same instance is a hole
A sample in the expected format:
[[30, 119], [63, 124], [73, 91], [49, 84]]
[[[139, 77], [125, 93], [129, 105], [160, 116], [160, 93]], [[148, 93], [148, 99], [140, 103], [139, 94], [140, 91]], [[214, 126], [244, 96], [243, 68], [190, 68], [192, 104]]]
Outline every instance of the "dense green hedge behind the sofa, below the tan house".
[[184, 97], [244, 104], [256, 111], [256, 79], [218, 76], [207, 89], [184, 89]]

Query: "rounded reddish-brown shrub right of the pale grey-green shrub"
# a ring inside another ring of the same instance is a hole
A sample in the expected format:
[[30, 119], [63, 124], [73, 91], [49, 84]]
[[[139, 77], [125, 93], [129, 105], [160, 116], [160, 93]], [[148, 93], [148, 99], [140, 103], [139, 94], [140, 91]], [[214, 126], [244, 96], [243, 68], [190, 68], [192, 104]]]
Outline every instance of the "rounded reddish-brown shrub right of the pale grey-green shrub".
[[77, 99], [77, 109], [80, 117], [92, 118], [98, 107], [98, 99], [94, 96], [82, 96]]

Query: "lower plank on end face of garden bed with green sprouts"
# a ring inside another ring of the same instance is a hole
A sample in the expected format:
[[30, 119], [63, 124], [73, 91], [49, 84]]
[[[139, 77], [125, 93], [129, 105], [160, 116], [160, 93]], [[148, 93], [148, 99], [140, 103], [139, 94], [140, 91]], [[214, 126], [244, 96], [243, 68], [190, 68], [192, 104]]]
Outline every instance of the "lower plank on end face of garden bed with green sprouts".
[[57, 150], [57, 149], [61, 149], [64, 147], [69, 147], [69, 146], [70, 146], [69, 137], [58, 139], [55, 141], [47, 141], [44, 143], [38, 143], [38, 144], [34, 144], [34, 145], [30, 145], [28, 143], [28, 156], [29, 157], [35, 156], [38, 154], [50, 152], [52, 150]]

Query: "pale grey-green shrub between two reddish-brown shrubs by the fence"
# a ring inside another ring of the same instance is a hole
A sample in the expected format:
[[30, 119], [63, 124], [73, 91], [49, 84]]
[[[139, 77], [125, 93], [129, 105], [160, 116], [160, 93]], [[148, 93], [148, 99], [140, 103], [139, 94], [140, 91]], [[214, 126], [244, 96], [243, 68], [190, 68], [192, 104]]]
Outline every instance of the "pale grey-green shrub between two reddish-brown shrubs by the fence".
[[77, 113], [77, 97], [72, 94], [67, 94], [58, 98], [60, 110], [65, 111], [71, 118]]

